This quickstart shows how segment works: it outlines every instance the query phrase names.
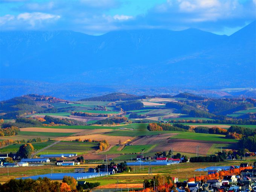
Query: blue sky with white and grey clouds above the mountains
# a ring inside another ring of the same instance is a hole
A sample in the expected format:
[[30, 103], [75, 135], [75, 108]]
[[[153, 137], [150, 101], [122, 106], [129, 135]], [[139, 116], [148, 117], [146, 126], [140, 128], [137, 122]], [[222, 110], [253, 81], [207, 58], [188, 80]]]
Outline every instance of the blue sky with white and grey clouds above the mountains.
[[1, 30], [197, 28], [231, 35], [255, 20], [256, 0], [0, 0]]

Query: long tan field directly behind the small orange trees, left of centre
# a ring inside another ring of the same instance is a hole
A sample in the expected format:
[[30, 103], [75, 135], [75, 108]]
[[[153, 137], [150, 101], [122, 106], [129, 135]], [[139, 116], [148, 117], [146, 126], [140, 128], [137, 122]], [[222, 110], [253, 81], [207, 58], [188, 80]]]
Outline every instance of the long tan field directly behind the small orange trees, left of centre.
[[117, 145], [119, 143], [119, 139], [122, 143], [130, 141], [133, 137], [129, 136], [106, 136], [102, 134], [91, 134], [91, 135], [84, 135], [84, 136], [70, 136], [70, 137], [62, 137], [56, 140], [60, 141], [72, 141], [75, 139], [98, 139], [98, 140], [107, 140], [110, 145]]

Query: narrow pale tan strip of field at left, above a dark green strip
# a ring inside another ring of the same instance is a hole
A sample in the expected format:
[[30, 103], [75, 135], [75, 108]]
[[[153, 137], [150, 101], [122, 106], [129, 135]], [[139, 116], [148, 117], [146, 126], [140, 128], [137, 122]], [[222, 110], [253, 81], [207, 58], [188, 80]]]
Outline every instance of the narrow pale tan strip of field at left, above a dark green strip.
[[55, 129], [55, 128], [43, 128], [43, 127], [28, 127], [20, 128], [20, 131], [33, 131], [33, 132], [50, 132], [50, 133], [79, 133], [84, 130], [79, 129]]

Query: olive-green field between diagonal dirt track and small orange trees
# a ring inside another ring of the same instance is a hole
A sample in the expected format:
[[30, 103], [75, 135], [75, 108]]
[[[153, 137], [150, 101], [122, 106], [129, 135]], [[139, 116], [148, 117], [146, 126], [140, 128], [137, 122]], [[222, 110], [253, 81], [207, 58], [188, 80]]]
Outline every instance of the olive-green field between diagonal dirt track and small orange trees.
[[77, 153], [84, 154], [98, 149], [98, 143], [61, 141], [39, 154]]

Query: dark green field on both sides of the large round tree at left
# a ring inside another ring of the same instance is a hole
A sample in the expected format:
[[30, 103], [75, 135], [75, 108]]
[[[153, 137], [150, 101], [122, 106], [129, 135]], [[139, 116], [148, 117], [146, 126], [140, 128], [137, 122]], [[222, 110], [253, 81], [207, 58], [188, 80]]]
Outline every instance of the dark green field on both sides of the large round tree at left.
[[[40, 142], [40, 143], [31, 143], [33, 146], [34, 146], [34, 150], [40, 150], [40, 149], [43, 149], [45, 148], [46, 146], [50, 145], [54, 143], [53, 141], [49, 141], [49, 142]], [[0, 148], [0, 152], [1, 153], [16, 153], [20, 146], [23, 145], [24, 143], [22, 144], [13, 144], [13, 145], [8, 145], [8, 146], [5, 146], [3, 148]]]

